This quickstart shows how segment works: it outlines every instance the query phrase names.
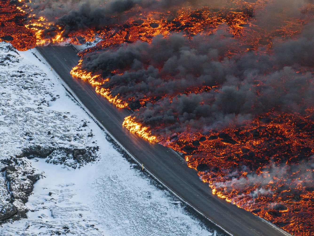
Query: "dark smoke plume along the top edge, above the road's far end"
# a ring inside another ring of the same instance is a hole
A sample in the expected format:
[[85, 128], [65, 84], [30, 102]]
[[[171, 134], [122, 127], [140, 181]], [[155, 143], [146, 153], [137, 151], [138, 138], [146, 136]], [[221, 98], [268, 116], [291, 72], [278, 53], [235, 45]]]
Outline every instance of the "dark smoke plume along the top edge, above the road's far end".
[[[213, 1], [216, 2], [216, 1]], [[30, 7], [36, 16], [43, 16], [51, 22], [51, 26], [43, 32], [44, 37], [53, 37], [57, 31], [68, 33], [84, 31], [86, 29], [101, 29], [108, 25], [123, 24], [132, 15], [138, 12], [123, 14], [135, 7], [142, 11], [151, 9], [167, 9], [182, 6], [199, 5], [198, 1], [190, 0], [79, 0], [79, 1], [35, 1]], [[61, 29], [58, 29], [61, 27]]]

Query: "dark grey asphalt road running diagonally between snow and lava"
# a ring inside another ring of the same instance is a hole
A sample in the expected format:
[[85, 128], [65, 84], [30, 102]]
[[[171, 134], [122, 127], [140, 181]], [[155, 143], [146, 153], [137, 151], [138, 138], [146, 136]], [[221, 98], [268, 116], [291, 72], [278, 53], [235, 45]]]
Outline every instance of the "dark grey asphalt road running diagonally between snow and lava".
[[130, 110], [116, 108], [95, 92], [95, 87], [70, 75], [79, 57], [72, 47], [37, 48], [52, 68], [71, 88], [85, 107], [106, 127], [107, 131], [144, 167], [182, 199], [234, 236], [290, 235], [274, 228], [257, 216], [212, 194], [194, 169], [168, 148], [148, 142], [122, 126]]

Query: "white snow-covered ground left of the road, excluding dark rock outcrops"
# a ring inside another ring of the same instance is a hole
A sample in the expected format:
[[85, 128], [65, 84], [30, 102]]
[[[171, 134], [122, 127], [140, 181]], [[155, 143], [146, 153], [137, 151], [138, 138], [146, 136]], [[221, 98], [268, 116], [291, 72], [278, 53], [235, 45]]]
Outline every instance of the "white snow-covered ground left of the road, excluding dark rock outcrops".
[[[16, 52], [0, 42], [0, 86], [0, 161], [34, 145], [100, 147], [97, 160], [84, 165], [72, 155], [54, 153], [19, 158], [13, 172], [0, 172], [4, 184], [10, 173], [20, 186], [30, 183], [25, 173], [40, 178], [25, 205], [23, 198], [8, 201], [14, 189], [2, 189], [2, 207], [24, 207], [28, 218], [3, 223], [0, 235], [220, 235], [135, 161], [122, 157], [36, 49]], [[62, 158], [62, 165], [47, 163]], [[8, 165], [2, 161], [0, 169]]]

